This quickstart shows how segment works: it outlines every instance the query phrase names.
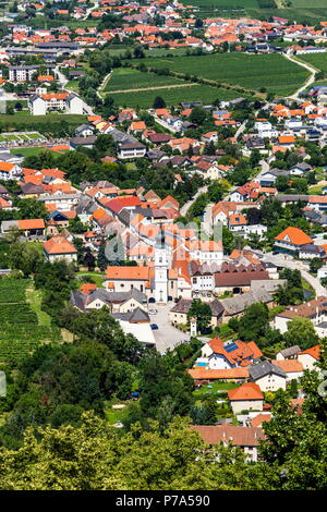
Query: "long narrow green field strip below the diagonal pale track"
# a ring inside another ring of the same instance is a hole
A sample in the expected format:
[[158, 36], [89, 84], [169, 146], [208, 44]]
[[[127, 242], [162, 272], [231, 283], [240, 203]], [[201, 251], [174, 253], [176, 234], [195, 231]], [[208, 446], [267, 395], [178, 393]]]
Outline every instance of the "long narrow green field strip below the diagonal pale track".
[[114, 102], [122, 107], [150, 108], [156, 96], [164, 98], [167, 105], [178, 105], [181, 101], [203, 101], [213, 102], [216, 99], [228, 101], [234, 98], [249, 97], [233, 89], [222, 87], [210, 87], [208, 85], [191, 84], [186, 87], [172, 87], [164, 89], [140, 90], [134, 93], [117, 93], [111, 97]]

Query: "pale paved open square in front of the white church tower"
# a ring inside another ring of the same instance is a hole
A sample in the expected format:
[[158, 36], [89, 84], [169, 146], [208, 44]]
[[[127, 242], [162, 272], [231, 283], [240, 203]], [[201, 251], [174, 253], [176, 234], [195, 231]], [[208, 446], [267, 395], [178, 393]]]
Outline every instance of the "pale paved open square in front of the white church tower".
[[157, 315], [150, 315], [152, 324], [157, 324], [158, 330], [154, 330], [154, 336], [157, 342], [157, 351], [164, 354], [167, 349], [173, 349], [175, 345], [183, 343], [184, 340], [190, 340], [190, 334], [175, 329], [169, 321], [168, 314], [174, 306], [174, 302], [167, 305], [150, 304], [149, 308], [158, 310]]

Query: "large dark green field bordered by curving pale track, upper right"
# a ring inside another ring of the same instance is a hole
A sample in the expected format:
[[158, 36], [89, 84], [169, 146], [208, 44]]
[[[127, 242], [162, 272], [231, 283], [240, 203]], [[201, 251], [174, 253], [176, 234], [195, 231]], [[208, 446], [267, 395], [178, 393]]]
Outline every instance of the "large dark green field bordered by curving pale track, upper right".
[[[133, 61], [135, 62], [135, 61]], [[308, 72], [279, 54], [215, 53], [201, 57], [145, 58], [152, 68], [169, 69], [215, 82], [238, 85], [247, 89], [287, 96], [294, 93], [308, 77]]]

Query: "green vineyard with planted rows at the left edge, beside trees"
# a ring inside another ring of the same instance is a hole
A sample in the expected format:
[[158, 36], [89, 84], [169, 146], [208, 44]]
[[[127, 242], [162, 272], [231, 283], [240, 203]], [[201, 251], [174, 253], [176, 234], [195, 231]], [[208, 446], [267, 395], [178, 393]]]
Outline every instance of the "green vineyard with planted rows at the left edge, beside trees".
[[38, 322], [26, 302], [25, 279], [0, 279], [0, 363], [19, 363], [41, 342], [60, 340], [60, 330]]

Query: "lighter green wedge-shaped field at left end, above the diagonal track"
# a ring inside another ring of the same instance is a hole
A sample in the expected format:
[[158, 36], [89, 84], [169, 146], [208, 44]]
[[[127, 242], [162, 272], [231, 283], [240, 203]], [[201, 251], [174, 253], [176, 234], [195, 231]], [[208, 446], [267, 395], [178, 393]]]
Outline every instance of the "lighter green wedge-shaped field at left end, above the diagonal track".
[[183, 84], [182, 80], [173, 76], [159, 76], [156, 73], [142, 73], [137, 70], [129, 68], [119, 68], [113, 70], [109, 81], [107, 82], [105, 92], [124, 89], [144, 89], [148, 87], [159, 87], [164, 85]]

